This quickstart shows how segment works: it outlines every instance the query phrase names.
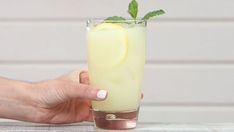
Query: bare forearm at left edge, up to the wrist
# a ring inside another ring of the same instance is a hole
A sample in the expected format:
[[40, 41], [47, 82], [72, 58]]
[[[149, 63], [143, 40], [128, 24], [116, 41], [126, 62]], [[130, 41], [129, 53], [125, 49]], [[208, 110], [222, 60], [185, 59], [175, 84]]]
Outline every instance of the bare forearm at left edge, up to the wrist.
[[0, 77], [0, 118], [28, 121], [34, 115], [33, 84]]

